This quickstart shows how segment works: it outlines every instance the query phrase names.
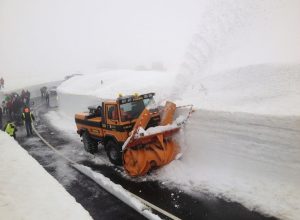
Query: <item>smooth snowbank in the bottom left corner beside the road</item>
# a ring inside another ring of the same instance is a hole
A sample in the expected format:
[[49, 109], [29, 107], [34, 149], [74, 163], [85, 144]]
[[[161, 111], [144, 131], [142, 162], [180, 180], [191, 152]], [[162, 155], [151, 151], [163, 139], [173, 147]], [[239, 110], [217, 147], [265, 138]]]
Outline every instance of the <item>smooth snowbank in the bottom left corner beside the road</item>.
[[1, 219], [92, 219], [11, 137], [0, 131]]

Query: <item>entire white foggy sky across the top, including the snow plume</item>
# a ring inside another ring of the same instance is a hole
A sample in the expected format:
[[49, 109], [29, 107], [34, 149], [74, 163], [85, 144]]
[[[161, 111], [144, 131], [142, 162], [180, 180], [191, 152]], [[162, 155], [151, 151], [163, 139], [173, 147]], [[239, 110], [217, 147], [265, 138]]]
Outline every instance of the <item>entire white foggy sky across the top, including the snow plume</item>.
[[188, 84], [190, 73], [299, 63], [299, 20], [297, 0], [0, 0], [0, 76], [15, 88], [160, 62]]

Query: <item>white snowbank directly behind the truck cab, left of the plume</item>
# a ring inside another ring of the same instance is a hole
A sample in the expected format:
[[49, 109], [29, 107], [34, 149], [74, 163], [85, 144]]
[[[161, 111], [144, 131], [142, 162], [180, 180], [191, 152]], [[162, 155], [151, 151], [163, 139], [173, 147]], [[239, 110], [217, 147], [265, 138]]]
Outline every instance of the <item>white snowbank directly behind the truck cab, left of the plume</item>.
[[[156, 102], [165, 101], [172, 90], [175, 73], [160, 71], [115, 70], [73, 77], [57, 89], [62, 114], [74, 117], [99, 105], [105, 99], [116, 99], [121, 93], [131, 95], [155, 92]], [[101, 84], [102, 81], [102, 84]]]

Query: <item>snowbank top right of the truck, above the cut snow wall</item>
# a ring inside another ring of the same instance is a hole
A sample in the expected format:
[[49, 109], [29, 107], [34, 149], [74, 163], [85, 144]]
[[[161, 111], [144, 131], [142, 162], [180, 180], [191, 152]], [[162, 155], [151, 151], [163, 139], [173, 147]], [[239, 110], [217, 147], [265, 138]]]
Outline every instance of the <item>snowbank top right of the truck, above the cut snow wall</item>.
[[253, 65], [190, 77], [180, 99], [198, 108], [300, 115], [300, 65]]

